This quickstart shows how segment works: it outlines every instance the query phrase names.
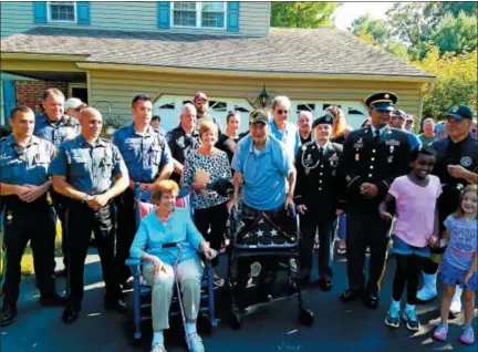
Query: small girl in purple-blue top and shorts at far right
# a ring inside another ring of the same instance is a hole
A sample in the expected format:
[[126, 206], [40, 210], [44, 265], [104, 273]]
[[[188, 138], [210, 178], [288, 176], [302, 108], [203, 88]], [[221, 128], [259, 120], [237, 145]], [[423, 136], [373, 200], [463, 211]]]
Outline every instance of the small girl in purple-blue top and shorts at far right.
[[445, 237], [448, 237], [449, 241], [438, 269], [444, 293], [440, 309], [441, 321], [435, 330], [434, 338], [439, 341], [445, 341], [447, 338], [450, 303], [458, 284], [464, 289], [465, 296], [465, 324], [459, 340], [465, 344], [475, 343], [471, 322], [475, 311], [475, 292], [478, 290], [477, 190], [477, 185], [465, 187], [458, 209], [444, 221]]

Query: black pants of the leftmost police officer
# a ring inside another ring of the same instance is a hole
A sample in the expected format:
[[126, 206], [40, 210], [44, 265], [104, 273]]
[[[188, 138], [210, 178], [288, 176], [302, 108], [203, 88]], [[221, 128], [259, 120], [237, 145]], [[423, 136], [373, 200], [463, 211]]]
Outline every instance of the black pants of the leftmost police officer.
[[4, 206], [3, 249], [7, 265], [3, 304], [15, 307], [20, 293], [21, 259], [29, 240], [40, 294], [51, 296], [55, 292], [55, 214], [46, 200], [34, 205], [19, 200]]

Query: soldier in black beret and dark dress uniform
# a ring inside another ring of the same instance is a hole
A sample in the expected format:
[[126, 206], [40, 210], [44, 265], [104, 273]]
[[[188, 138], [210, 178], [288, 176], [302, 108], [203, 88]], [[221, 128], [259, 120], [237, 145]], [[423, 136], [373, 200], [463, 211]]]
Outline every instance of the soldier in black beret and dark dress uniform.
[[336, 167], [342, 145], [330, 142], [333, 118], [325, 115], [312, 123], [314, 141], [305, 143], [295, 156], [298, 173], [295, 204], [300, 214], [301, 266], [304, 283], [310, 281], [313, 245], [319, 228], [319, 286], [332, 289], [333, 222], [336, 215]]

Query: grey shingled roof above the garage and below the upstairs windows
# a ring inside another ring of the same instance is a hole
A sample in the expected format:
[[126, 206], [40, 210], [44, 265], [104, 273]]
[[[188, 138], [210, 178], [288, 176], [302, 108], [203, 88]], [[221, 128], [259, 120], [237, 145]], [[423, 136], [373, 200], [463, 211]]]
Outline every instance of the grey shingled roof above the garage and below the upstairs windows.
[[2, 39], [1, 51], [196, 70], [434, 77], [330, 28], [271, 28], [269, 37], [252, 38], [38, 27]]

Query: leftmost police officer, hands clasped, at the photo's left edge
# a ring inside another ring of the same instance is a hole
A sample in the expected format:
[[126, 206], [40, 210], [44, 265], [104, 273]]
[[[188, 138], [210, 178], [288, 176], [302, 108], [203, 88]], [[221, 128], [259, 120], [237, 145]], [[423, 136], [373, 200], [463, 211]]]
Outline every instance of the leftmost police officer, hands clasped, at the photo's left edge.
[[33, 136], [34, 113], [30, 107], [14, 107], [10, 125], [12, 134], [0, 141], [0, 191], [4, 207], [3, 246], [7, 256], [1, 327], [11, 324], [17, 314], [20, 262], [29, 240], [40, 302], [43, 306], [64, 302], [55, 290], [55, 216], [46, 200], [51, 186], [48, 168], [55, 148], [50, 142]]

